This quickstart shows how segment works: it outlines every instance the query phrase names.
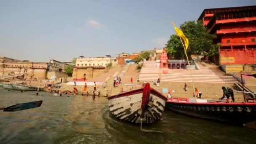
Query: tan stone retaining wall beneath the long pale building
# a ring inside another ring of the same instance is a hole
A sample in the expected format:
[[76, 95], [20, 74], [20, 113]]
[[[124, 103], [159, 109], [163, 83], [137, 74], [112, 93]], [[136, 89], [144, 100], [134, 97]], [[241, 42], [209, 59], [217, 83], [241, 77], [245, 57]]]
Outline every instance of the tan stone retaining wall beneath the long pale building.
[[75, 67], [73, 70], [73, 74], [72, 77], [74, 79], [80, 79], [83, 78], [84, 74], [86, 75], [86, 78], [94, 78], [97, 77], [99, 75], [101, 75], [104, 72], [107, 72], [108, 68], [93, 68], [93, 67]]

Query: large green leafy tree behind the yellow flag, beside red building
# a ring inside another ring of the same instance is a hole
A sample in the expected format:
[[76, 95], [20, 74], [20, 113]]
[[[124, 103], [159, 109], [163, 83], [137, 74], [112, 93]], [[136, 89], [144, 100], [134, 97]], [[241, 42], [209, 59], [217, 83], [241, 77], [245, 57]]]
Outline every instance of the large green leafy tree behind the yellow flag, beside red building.
[[[180, 25], [180, 29], [189, 39], [188, 54], [201, 53], [205, 51], [211, 55], [218, 53], [219, 45], [213, 44], [213, 39], [216, 35], [211, 35], [207, 28], [203, 26], [201, 21], [186, 21]], [[184, 48], [180, 38], [176, 35], [171, 35], [170, 40], [166, 44], [167, 52], [175, 54], [175, 56], [183, 57]]]

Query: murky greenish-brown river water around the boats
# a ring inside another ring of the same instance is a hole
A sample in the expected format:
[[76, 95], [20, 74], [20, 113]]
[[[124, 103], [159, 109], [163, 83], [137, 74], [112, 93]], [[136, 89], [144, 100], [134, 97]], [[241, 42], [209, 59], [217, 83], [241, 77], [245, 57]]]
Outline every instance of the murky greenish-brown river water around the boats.
[[124, 123], [109, 114], [105, 97], [53, 96], [0, 89], [0, 107], [43, 100], [41, 107], [0, 111], [0, 144], [256, 144], [256, 131], [165, 110], [160, 121]]

